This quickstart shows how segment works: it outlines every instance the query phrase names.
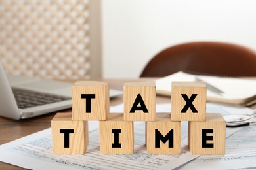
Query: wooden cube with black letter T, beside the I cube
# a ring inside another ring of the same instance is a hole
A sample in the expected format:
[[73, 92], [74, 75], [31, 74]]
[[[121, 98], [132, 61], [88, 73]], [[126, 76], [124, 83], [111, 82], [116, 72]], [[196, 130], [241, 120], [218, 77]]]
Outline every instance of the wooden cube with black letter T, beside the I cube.
[[87, 121], [74, 121], [71, 113], [57, 113], [51, 127], [53, 154], [85, 154], [89, 144]]

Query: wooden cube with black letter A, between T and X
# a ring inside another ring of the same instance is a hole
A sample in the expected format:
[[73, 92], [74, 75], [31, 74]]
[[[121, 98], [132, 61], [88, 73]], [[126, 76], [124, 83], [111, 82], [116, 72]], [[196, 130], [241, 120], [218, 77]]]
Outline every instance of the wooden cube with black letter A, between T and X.
[[156, 121], [155, 82], [127, 82], [123, 86], [125, 121]]

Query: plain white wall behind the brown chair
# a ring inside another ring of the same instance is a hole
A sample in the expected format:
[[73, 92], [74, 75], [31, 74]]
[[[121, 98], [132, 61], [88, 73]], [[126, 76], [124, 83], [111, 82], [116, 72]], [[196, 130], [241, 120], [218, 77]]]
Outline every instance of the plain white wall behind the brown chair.
[[160, 50], [190, 41], [256, 50], [256, 1], [102, 0], [103, 78], [137, 78]]

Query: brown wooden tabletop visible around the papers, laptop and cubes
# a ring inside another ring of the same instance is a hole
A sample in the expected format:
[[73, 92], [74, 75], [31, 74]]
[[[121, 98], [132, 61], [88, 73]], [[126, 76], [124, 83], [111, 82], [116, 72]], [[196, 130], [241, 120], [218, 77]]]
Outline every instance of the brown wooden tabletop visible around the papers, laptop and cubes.
[[[143, 78], [140, 80], [102, 80], [104, 82], [108, 82], [110, 84], [110, 88], [116, 90], [123, 90], [124, 82], [135, 82], [141, 80], [154, 80], [155, 78]], [[170, 97], [161, 97], [157, 96], [157, 103], [171, 103]], [[114, 99], [110, 99], [110, 106], [114, 106], [117, 104], [123, 103], [123, 96], [120, 95]], [[256, 105], [253, 105], [253, 108], [256, 108]], [[62, 110], [60, 112], [68, 112], [70, 109]], [[43, 129], [47, 129], [51, 127], [51, 120], [56, 112], [45, 114], [43, 116], [37, 116], [35, 118], [29, 118], [26, 120], [11, 120], [7, 118], [0, 117], [0, 144], [8, 143], [15, 139], [19, 139], [26, 135], [30, 135], [37, 131], [41, 131]], [[3, 163], [0, 161], [0, 169], [22, 169], [21, 167], [16, 167], [14, 165], [10, 165], [8, 163]]]

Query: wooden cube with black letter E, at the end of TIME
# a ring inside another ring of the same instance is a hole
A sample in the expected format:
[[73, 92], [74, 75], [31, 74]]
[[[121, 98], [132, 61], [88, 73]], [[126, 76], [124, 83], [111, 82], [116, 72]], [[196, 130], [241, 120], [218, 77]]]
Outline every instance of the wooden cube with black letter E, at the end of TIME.
[[192, 154], [224, 155], [226, 122], [221, 114], [206, 114], [205, 122], [188, 122], [188, 146]]

